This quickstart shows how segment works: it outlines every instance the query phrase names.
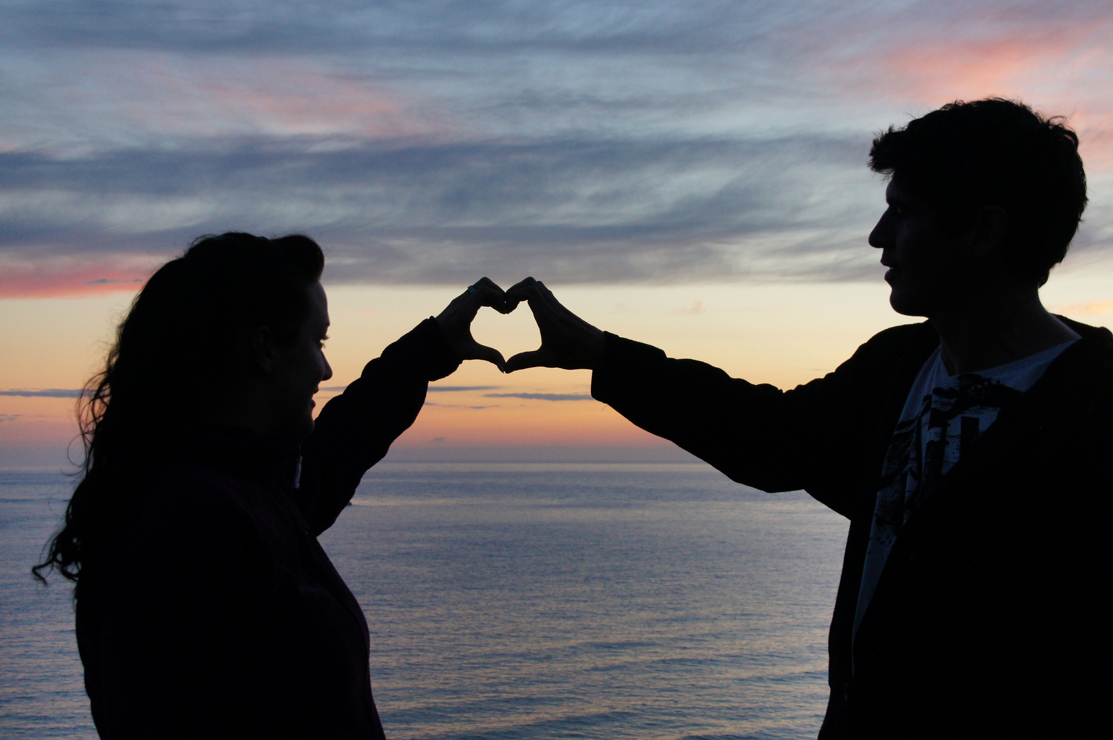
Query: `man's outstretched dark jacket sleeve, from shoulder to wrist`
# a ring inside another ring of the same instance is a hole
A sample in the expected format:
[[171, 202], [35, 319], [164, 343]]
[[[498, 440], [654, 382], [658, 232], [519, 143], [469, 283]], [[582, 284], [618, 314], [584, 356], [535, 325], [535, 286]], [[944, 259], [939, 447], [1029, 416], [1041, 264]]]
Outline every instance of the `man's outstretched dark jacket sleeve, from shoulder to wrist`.
[[904, 402], [900, 388], [890, 386], [907, 375], [897, 371], [912, 329], [878, 334], [835, 372], [791, 391], [608, 334], [591, 393], [738, 483], [769, 492], [802, 489], [850, 515], [863, 486], [876, 490], [870, 478], [880, 473], [896, 422], [888, 417]]

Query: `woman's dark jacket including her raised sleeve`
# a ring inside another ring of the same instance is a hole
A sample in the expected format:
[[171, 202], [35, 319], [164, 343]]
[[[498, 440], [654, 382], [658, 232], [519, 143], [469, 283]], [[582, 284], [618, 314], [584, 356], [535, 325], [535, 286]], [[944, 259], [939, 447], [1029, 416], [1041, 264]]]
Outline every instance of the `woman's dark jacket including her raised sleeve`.
[[102, 738], [383, 737], [367, 623], [317, 535], [459, 364], [430, 319], [304, 442], [215, 430], [149, 466], [138, 514], [77, 591]]

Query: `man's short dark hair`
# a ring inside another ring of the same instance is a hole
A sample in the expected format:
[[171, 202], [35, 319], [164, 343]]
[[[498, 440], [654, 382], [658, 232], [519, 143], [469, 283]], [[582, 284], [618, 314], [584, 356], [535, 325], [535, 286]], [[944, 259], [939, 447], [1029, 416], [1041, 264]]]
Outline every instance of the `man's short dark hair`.
[[[1035, 286], [1066, 255], [1086, 207], [1078, 137], [1061, 118], [999, 98], [952, 102], [889, 127], [874, 139], [869, 167], [930, 210], [945, 238], [971, 233], [991, 214], [999, 238], [971, 259]], [[875, 236], [870, 237], [885, 247]]]

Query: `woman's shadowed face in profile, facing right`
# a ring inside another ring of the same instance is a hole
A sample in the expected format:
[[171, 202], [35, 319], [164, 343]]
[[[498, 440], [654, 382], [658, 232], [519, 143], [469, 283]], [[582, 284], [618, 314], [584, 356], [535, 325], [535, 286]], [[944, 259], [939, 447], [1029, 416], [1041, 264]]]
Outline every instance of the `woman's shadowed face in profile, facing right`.
[[274, 417], [276, 432], [313, 431], [313, 394], [322, 381], [333, 376], [333, 368], [325, 359], [325, 339], [328, 333], [328, 302], [325, 288], [314, 283], [309, 290], [309, 317], [302, 322], [297, 335], [276, 349], [272, 387], [274, 389]]

